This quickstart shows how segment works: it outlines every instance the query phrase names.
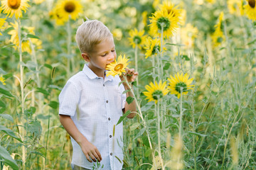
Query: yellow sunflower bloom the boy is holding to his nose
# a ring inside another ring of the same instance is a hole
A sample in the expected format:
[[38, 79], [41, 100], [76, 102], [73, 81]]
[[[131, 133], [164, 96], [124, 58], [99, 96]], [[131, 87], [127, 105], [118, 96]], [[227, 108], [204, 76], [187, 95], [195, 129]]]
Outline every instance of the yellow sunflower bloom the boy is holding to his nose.
[[107, 77], [108, 76], [115, 76], [115, 75], [119, 75], [121, 76], [121, 74], [123, 72], [125, 72], [125, 68], [127, 67], [127, 65], [130, 63], [128, 62], [129, 58], [125, 57], [122, 57], [122, 55], [119, 55], [118, 59], [117, 60], [114, 60], [114, 62], [110, 63], [110, 64], [107, 64], [107, 70], [109, 70], [107, 72]]

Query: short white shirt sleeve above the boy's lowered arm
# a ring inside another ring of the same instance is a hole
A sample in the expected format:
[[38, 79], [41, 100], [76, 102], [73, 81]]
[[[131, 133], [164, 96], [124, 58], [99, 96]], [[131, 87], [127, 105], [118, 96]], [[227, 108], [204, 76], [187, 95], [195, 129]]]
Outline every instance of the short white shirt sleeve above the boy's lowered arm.
[[68, 81], [59, 95], [59, 115], [75, 115], [79, 98], [78, 89], [71, 81]]

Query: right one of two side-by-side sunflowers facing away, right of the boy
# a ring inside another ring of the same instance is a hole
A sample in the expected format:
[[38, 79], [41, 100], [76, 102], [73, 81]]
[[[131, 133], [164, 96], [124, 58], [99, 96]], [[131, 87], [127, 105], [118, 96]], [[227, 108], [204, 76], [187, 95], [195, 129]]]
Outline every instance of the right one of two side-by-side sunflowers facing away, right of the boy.
[[177, 73], [175, 77], [170, 76], [168, 78], [169, 80], [169, 90], [171, 94], [175, 94], [178, 98], [181, 97], [181, 92], [182, 95], [188, 94], [189, 89], [193, 89], [192, 87], [194, 85], [191, 85], [193, 78], [188, 79], [188, 74], [179, 74]]

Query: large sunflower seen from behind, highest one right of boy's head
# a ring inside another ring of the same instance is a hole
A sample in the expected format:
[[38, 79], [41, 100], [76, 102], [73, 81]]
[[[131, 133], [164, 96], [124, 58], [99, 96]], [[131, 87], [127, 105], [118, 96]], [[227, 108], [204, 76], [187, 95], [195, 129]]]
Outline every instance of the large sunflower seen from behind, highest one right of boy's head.
[[151, 18], [150, 29], [155, 35], [161, 36], [161, 28], [163, 27], [163, 36], [169, 38], [169, 36], [174, 35], [176, 28], [178, 28], [178, 16], [175, 16], [174, 12], [156, 11], [149, 18]]

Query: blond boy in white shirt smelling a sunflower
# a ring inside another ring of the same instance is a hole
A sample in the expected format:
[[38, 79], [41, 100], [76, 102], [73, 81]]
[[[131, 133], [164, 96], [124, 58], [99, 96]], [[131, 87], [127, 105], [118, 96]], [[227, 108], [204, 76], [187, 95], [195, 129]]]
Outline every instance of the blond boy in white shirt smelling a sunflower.
[[[82, 58], [88, 63], [71, 77], [60, 93], [60, 123], [71, 136], [73, 169], [92, 169], [93, 162], [100, 162], [103, 169], [122, 169], [122, 123], [117, 124], [122, 113], [131, 111], [127, 118], [134, 118], [136, 103], [128, 104], [131, 92], [127, 84], [119, 86], [123, 77], [106, 77], [106, 66], [117, 57], [110, 30], [100, 21], [85, 21], [75, 37]], [[134, 69], [126, 70], [129, 82], [136, 79]]]

